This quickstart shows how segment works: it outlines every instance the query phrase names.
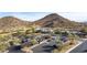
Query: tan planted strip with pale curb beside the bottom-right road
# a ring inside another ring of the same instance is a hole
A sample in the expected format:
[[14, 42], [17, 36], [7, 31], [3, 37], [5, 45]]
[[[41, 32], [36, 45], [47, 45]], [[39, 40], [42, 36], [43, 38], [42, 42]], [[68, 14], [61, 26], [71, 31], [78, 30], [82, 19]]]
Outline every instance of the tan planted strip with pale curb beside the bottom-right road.
[[83, 42], [81, 41], [74, 41], [73, 44], [70, 44], [70, 41], [67, 41], [61, 46], [61, 48], [55, 48], [53, 53], [69, 53], [72, 50], [80, 45]]

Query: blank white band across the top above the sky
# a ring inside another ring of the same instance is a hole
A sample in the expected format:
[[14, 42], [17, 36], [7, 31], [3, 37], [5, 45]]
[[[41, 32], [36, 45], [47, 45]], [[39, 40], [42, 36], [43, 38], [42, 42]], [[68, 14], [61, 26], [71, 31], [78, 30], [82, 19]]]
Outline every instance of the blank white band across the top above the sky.
[[87, 0], [0, 0], [4, 12], [87, 12]]

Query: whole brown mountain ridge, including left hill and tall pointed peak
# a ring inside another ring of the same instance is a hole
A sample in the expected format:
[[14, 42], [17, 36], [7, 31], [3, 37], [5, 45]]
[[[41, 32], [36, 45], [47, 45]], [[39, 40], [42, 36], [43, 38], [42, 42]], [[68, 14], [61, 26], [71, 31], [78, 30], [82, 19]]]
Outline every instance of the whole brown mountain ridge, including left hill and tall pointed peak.
[[63, 28], [63, 29], [75, 29], [79, 30], [87, 24], [70, 21], [66, 18], [61, 17], [57, 13], [51, 13], [40, 20], [34, 22], [23, 21], [14, 17], [3, 17], [0, 18], [0, 31], [13, 31], [24, 28], [30, 28], [31, 25], [40, 25], [43, 28]]

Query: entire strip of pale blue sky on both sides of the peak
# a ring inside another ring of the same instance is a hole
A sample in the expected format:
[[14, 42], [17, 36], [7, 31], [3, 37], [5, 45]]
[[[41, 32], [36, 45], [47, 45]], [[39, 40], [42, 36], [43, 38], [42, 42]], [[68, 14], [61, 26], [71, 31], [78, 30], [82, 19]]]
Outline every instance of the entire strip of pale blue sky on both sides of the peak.
[[[35, 21], [47, 14], [51, 12], [0, 12], [0, 18], [11, 15], [26, 21]], [[58, 12], [57, 14], [77, 22], [87, 21], [87, 12]]]

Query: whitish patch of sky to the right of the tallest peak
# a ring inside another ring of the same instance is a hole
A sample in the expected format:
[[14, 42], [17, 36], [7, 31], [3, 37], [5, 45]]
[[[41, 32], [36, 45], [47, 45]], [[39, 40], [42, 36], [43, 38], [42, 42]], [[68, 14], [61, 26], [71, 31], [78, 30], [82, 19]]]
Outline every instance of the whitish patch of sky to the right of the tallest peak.
[[87, 22], [87, 12], [59, 12], [59, 15], [77, 22]]

